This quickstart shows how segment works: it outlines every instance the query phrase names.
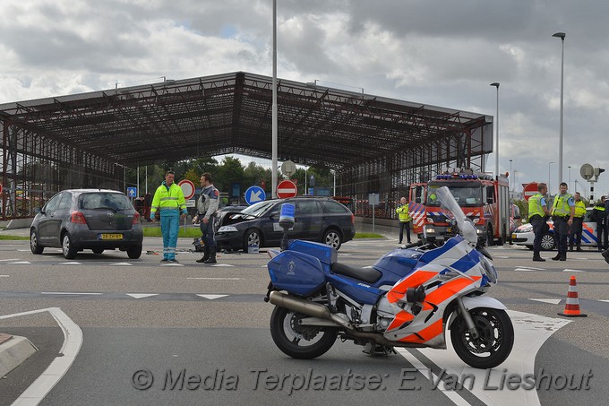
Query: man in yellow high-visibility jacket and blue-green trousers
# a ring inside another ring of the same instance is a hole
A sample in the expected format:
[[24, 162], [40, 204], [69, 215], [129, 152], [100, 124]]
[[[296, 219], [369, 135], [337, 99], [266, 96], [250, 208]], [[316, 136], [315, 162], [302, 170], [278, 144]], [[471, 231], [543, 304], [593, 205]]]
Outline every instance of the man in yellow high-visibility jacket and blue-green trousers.
[[[175, 174], [168, 170], [165, 180], [157, 188], [150, 207], [150, 221], [160, 211], [160, 232], [163, 234], [163, 259], [161, 263], [177, 263], [177, 232], [180, 229], [180, 218], [186, 217], [186, 202], [182, 187], [174, 183]], [[182, 214], [180, 214], [182, 213]]]

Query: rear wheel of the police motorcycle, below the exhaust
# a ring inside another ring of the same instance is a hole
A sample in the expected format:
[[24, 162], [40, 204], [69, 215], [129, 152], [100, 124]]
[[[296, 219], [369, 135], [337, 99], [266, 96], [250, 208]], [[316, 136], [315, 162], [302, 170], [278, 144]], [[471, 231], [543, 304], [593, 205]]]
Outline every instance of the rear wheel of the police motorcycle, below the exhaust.
[[338, 331], [331, 327], [300, 325], [308, 317], [284, 307], [270, 315], [270, 335], [275, 344], [292, 358], [312, 359], [325, 354], [336, 341]]

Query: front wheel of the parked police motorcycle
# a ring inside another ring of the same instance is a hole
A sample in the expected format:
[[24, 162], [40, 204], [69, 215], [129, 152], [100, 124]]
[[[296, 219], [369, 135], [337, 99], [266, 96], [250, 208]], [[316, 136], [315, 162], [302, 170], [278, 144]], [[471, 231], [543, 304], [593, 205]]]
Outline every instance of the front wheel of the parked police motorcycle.
[[514, 345], [514, 327], [504, 310], [479, 307], [469, 311], [474, 319], [478, 338], [473, 338], [461, 315], [450, 327], [452, 346], [467, 365], [475, 368], [493, 368], [510, 355]]

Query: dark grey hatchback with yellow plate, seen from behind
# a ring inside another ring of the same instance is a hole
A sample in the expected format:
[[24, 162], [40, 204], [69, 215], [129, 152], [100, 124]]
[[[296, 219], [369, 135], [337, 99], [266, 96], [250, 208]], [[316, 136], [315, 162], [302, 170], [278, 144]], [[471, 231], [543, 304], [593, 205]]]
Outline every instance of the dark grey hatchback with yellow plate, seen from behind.
[[83, 249], [106, 249], [142, 255], [140, 214], [127, 196], [116, 190], [70, 189], [59, 192], [39, 210], [30, 228], [30, 248], [42, 254], [46, 246], [61, 247], [66, 259]]

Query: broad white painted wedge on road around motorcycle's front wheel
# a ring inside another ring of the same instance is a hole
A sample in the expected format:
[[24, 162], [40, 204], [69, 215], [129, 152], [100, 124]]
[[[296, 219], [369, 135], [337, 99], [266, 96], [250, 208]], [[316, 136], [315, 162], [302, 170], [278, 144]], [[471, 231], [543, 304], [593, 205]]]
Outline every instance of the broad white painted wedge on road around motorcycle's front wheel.
[[[535, 373], [535, 358], [537, 351], [550, 336], [570, 320], [545, 317], [508, 310], [514, 325], [514, 347], [502, 365], [493, 369], [476, 369], [467, 367], [457, 356], [450, 340], [447, 340], [447, 350], [419, 350], [435, 365], [442, 368], [450, 376], [474, 376], [474, 387], [470, 393], [485, 404], [526, 404], [539, 405], [536, 391], [528, 391], [519, 387], [514, 391], [489, 391], [485, 386], [498, 386], [506, 374], [525, 376]], [[471, 379], [469, 379], [471, 381]], [[469, 381], [465, 384], [469, 384]]]

